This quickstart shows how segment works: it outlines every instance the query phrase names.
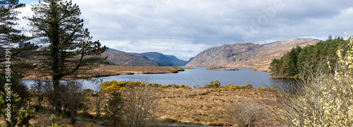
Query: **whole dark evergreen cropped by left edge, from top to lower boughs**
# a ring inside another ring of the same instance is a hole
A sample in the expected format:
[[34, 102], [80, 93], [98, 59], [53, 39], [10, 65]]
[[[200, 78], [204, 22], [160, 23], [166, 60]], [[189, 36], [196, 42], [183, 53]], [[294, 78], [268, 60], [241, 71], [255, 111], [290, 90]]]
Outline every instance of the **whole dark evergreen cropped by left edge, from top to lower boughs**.
[[23, 58], [29, 58], [37, 46], [28, 42], [30, 38], [21, 34], [22, 30], [14, 28], [19, 20], [16, 17], [19, 12], [15, 9], [23, 6], [18, 0], [0, 0], [0, 91], [4, 92], [5, 83], [12, 83], [12, 91], [25, 102], [28, 99], [28, 88], [20, 79], [25, 70], [34, 66]]

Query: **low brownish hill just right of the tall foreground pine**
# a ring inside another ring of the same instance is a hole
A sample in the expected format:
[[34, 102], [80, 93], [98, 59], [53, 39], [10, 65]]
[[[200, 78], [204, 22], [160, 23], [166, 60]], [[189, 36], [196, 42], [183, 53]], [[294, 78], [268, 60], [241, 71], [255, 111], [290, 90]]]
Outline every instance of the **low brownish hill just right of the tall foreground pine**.
[[130, 65], [130, 66], [157, 66], [157, 62], [145, 57], [138, 53], [125, 53], [115, 49], [108, 49], [102, 53], [102, 57], [108, 57], [109, 62], [113, 62], [114, 65]]

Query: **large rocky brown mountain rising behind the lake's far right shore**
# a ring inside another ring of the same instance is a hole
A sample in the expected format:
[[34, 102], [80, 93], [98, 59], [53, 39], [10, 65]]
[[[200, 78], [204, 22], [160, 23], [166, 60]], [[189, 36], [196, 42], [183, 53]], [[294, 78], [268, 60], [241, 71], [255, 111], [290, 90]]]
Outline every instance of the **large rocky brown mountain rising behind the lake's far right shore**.
[[280, 58], [295, 46], [314, 45], [318, 39], [291, 39], [270, 44], [225, 44], [198, 53], [186, 66], [253, 67], [268, 69], [274, 58]]

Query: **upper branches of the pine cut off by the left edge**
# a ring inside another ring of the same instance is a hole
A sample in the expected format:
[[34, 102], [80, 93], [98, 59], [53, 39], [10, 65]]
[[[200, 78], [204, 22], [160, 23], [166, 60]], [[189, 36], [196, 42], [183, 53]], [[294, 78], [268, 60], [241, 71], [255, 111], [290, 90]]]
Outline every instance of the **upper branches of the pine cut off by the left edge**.
[[[6, 61], [6, 48], [11, 48], [11, 61], [18, 60], [18, 58], [25, 58], [31, 55], [30, 51], [37, 48], [35, 44], [28, 42], [28, 36], [21, 34], [21, 29], [15, 29], [19, 20], [16, 16], [18, 11], [16, 8], [21, 8], [25, 4], [20, 4], [18, 0], [0, 0], [0, 68], [4, 69], [4, 62]], [[23, 66], [23, 65], [21, 65]], [[19, 71], [19, 70], [18, 70]]]

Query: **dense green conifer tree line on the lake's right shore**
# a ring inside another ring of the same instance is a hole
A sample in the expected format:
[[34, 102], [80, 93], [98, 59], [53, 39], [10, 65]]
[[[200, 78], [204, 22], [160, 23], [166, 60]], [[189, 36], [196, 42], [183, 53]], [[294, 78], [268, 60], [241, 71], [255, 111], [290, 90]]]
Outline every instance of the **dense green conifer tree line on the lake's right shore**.
[[[325, 69], [325, 72], [334, 73], [337, 64], [337, 50], [347, 51], [347, 40], [340, 36], [333, 39], [329, 36], [326, 41], [318, 42], [314, 46], [297, 46], [288, 51], [280, 59], [273, 59], [269, 69], [273, 76], [305, 76], [307, 73]], [[332, 68], [328, 67], [328, 63]]]

